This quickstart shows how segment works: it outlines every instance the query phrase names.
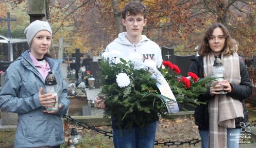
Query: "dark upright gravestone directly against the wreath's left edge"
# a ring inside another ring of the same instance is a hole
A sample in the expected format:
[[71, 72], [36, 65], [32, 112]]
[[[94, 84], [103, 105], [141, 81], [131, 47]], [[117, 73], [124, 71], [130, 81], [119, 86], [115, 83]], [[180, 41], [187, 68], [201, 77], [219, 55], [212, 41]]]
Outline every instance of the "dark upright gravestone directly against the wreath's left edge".
[[93, 77], [95, 78], [95, 82], [94, 82], [95, 89], [99, 89], [99, 86], [100, 86], [100, 83], [99, 83], [100, 69], [99, 69], [98, 64], [99, 64], [99, 62], [97, 62], [97, 61], [91, 61], [90, 62], [91, 75], [93, 75]]

